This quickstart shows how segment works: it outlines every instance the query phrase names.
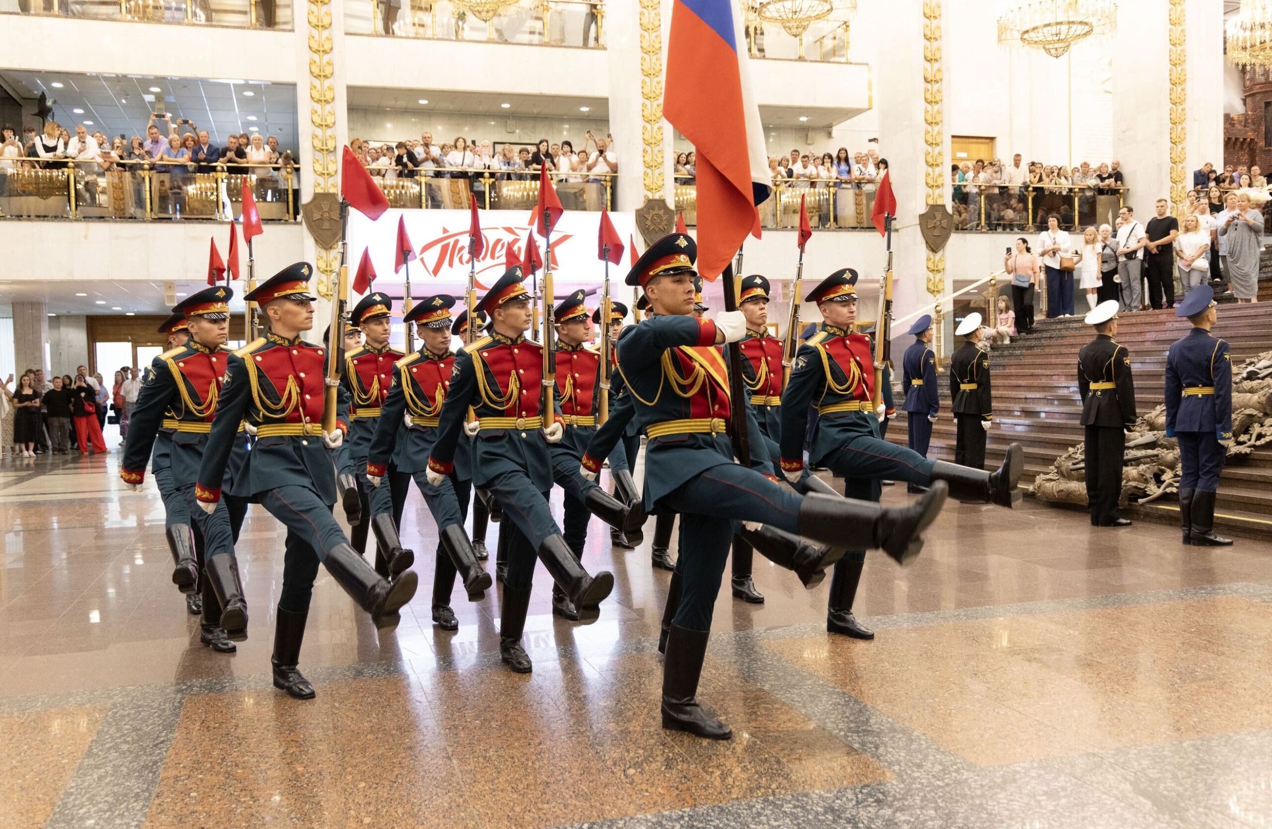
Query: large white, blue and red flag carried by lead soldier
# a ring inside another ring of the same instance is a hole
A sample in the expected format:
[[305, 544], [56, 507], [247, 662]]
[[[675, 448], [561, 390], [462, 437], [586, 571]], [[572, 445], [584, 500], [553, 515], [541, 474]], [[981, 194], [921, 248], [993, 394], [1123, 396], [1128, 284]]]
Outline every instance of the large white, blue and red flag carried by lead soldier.
[[759, 107], [750, 90], [742, 18], [731, 0], [674, 0], [663, 114], [697, 151], [698, 272], [717, 277], [768, 198]]

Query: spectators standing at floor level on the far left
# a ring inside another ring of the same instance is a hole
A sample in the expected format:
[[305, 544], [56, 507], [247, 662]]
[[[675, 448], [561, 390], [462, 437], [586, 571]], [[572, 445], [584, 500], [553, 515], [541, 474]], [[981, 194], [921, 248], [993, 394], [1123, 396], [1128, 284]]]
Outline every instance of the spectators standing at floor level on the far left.
[[43, 369], [27, 369], [17, 385], [10, 374], [0, 381], [0, 456], [104, 453], [107, 421], [118, 423], [120, 437], [127, 437], [140, 390], [140, 371], [128, 366], [114, 373], [111, 385], [86, 366], [76, 366], [74, 376], [51, 379]]

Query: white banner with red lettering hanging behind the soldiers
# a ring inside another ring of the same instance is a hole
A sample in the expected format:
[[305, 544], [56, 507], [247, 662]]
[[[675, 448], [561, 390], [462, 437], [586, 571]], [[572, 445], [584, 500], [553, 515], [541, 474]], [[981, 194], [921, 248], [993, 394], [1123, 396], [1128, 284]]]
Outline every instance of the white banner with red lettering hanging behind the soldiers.
[[[406, 231], [415, 247], [416, 259], [408, 263], [412, 296], [450, 292], [460, 294], [468, 284], [468, 223], [469, 212], [463, 210], [389, 210], [377, 221], [356, 210], [349, 216], [349, 276], [354, 277], [363, 249], [369, 248], [371, 263], [378, 275], [375, 285], [387, 290], [401, 285], [406, 270], [393, 272], [396, 263], [398, 216], [406, 217]], [[477, 294], [485, 294], [506, 270], [509, 248], [518, 261], [525, 253], [525, 239], [530, 233], [529, 212], [523, 210], [483, 210], [480, 212], [482, 238], [486, 249], [477, 259]], [[635, 236], [636, 221], [632, 214], [609, 214], [625, 245]], [[553, 292], [565, 296], [577, 287], [599, 286], [604, 281], [605, 266], [598, 256], [600, 214], [566, 211], [552, 229], [552, 281]], [[542, 235], [534, 244], [539, 257], [547, 262]], [[636, 256], [644, 253], [641, 245]], [[609, 266], [611, 287], [614, 294], [623, 284], [631, 262], [631, 252], [623, 252], [622, 264]], [[394, 291], [396, 292], [396, 291]]]

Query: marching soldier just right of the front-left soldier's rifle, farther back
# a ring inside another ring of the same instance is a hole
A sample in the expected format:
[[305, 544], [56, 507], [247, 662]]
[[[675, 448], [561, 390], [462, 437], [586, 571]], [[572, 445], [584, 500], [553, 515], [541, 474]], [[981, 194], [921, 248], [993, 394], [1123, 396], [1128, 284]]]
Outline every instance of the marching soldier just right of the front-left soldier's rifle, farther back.
[[[361, 329], [366, 345], [345, 352], [345, 373], [340, 381], [350, 397], [349, 440], [345, 449], [349, 454], [354, 474], [357, 477], [357, 495], [361, 504], [361, 516], [352, 531], [350, 543], [363, 553], [366, 549], [368, 525], [375, 531], [375, 572], [384, 577], [396, 576], [415, 562], [415, 553], [402, 547], [398, 538], [398, 524], [402, 521], [402, 506], [406, 493], [401, 490], [402, 476], [392, 462], [379, 477], [388, 477], [389, 486], [373, 487], [366, 481], [366, 453], [371, 448], [380, 423], [380, 411], [389, 395], [393, 383], [393, 364], [404, 355], [389, 346], [389, 328], [393, 319], [393, 300], [379, 291], [363, 298], [350, 314], [350, 324]], [[449, 323], [448, 323], [449, 324]], [[401, 415], [392, 423], [393, 434], [402, 436], [406, 431]]]

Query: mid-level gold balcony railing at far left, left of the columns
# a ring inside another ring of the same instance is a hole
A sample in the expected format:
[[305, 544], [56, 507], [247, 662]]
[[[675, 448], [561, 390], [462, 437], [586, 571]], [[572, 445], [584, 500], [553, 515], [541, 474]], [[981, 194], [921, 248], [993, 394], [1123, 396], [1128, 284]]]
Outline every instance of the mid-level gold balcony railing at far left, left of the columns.
[[[243, 181], [248, 182], [262, 221], [295, 221], [299, 179], [290, 167], [268, 167], [268, 174], [218, 167], [198, 173], [195, 165], [151, 165], [145, 161], [4, 159], [0, 167], [0, 217], [4, 219], [238, 219]], [[41, 167], [42, 165], [42, 167]], [[158, 169], [158, 168], [164, 169]]]

